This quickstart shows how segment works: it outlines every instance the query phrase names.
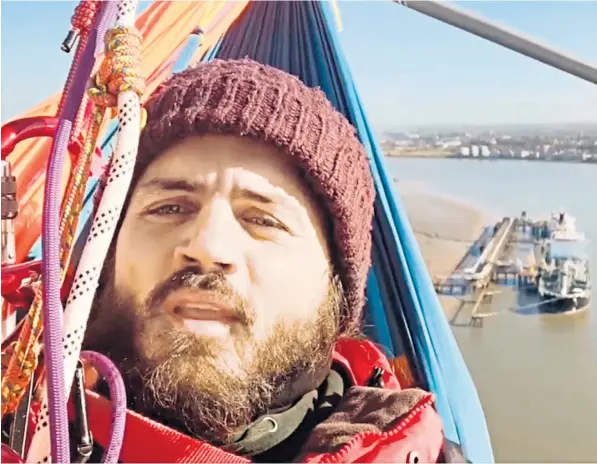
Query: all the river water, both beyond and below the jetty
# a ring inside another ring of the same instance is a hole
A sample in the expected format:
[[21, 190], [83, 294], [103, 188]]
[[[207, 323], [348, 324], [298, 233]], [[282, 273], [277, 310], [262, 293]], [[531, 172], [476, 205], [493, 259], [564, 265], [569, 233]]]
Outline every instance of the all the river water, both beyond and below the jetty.
[[[389, 158], [400, 180], [490, 213], [531, 218], [564, 210], [589, 243], [597, 277], [597, 165]], [[595, 284], [593, 285], [595, 287]], [[597, 462], [597, 298], [575, 315], [504, 311], [505, 291], [482, 328], [452, 327], [477, 385], [498, 462]], [[524, 302], [522, 302], [524, 304]]]

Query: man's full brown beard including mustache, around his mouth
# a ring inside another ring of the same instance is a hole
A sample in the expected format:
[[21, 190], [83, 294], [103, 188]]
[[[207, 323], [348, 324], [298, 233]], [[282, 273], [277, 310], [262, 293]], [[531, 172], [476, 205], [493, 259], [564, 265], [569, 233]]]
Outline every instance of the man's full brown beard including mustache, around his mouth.
[[[195, 335], [165, 317], [162, 303], [182, 288], [208, 290], [233, 308], [240, 323], [227, 340]], [[332, 278], [314, 316], [280, 321], [257, 341], [251, 331], [254, 311], [222, 273], [183, 269], [158, 284], [141, 307], [111, 278], [98, 290], [84, 348], [116, 363], [130, 408], [212, 444], [228, 444], [262, 414], [290, 405], [323, 382], [339, 337], [341, 307], [340, 280]]]

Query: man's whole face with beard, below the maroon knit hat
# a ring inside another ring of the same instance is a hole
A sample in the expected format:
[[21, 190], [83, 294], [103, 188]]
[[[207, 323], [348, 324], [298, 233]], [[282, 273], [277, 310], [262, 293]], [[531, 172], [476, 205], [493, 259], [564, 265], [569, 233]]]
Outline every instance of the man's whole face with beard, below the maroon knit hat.
[[340, 289], [287, 156], [187, 138], [148, 166], [124, 214], [88, 335], [137, 373], [144, 408], [219, 440], [321, 375]]

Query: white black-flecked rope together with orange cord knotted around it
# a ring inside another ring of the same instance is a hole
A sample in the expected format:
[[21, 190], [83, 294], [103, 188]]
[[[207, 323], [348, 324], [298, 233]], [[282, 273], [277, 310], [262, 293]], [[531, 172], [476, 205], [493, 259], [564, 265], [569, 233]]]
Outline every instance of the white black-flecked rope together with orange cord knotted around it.
[[[103, 266], [103, 261], [112, 241], [120, 212], [132, 178], [141, 130], [142, 110], [139, 97], [144, 90], [144, 80], [140, 75], [141, 38], [134, 27], [136, 0], [121, 0], [118, 5], [116, 27], [105, 36], [105, 55], [95, 76], [95, 86], [88, 91], [95, 104], [91, 132], [99, 131], [106, 109], [118, 106], [119, 137], [110, 174], [99, 203], [94, 221], [71, 291], [66, 303], [63, 325], [65, 393], [72, 382], [77, 367], [83, 335], [89, 312], [95, 296], [95, 289]], [[96, 132], [97, 135], [97, 132]], [[55, 340], [60, 343], [60, 340]], [[62, 347], [60, 347], [62, 348]], [[46, 346], [46, 350], [50, 349]], [[115, 394], [118, 396], [118, 392]], [[113, 398], [126, 407], [122, 398]], [[47, 408], [47, 395], [43, 395], [41, 416]], [[43, 424], [44, 417], [38, 419]], [[124, 414], [116, 416], [124, 420]], [[113, 424], [113, 430], [120, 430], [122, 424]], [[28, 462], [41, 462], [49, 459], [50, 430], [47, 426], [38, 427], [33, 436]], [[56, 433], [52, 430], [53, 433]]]

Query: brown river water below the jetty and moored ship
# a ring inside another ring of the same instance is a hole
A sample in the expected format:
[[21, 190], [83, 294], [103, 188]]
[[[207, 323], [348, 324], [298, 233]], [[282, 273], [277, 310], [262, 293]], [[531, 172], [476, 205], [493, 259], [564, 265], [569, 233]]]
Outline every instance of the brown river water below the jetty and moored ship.
[[512, 311], [529, 302], [505, 289], [486, 308], [499, 314], [482, 328], [453, 327], [481, 397], [496, 461], [595, 462], [595, 314]]

